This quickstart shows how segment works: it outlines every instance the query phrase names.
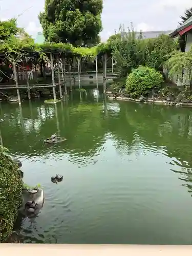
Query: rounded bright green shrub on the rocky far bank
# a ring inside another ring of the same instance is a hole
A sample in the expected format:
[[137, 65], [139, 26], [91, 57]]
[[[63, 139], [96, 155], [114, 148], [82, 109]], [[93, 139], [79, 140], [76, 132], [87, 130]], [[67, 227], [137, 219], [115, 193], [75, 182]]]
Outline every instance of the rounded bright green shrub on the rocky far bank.
[[126, 92], [131, 97], [146, 95], [154, 88], [159, 88], [163, 76], [153, 68], [140, 66], [134, 69], [126, 79]]

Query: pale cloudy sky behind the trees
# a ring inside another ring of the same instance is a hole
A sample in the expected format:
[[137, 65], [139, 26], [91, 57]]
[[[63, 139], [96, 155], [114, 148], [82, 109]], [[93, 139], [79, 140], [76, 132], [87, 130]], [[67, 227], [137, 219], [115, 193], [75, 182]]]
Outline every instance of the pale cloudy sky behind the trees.
[[[0, 0], [0, 20], [17, 18], [19, 27], [36, 37], [41, 32], [38, 14], [44, 10], [45, 0]], [[136, 31], [174, 30], [191, 0], [103, 0], [101, 40], [105, 41], [118, 31], [133, 26]]]

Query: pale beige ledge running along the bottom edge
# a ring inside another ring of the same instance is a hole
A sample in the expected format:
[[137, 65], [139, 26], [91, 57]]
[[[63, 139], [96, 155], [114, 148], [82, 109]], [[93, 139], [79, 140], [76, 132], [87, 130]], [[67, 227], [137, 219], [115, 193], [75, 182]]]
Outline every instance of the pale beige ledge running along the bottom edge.
[[[180, 256], [190, 255], [191, 245], [77, 245], [77, 244], [0, 244], [1, 255], [65, 256]], [[50, 253], [50, 254], [49, 254]]]

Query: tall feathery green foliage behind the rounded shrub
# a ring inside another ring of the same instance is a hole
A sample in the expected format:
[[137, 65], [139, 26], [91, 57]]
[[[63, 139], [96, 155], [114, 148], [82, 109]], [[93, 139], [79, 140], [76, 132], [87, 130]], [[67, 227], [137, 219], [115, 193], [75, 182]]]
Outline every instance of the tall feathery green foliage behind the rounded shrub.
[[177, 48], [177, 40], [167, 35], [143, 39], [143, 35], [140, 33], [137, 38], [133, 27], [127, 33], [124, 32], [123, 40], [111, 43], [111, 51], [121, 76], [127, 76], [132, 69], [138, 68], [140, 65], [162, 70], [164, 61]]

